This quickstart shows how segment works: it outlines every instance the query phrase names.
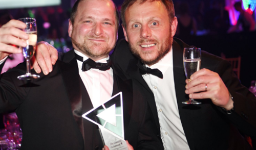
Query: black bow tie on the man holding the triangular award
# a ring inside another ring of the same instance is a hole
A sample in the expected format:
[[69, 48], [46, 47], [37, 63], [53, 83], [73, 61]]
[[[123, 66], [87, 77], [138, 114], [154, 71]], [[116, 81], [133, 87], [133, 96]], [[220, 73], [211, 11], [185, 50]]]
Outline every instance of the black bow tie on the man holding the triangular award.
[[101, 71], [105, 71], [110, 69], [111, 67], [111, 60], [107, 60], [106, 63], [97, 63], [95, 61], [93, 61], [92, 59], [88, 58], [86, 61], [83, 61], [83, 58], [79, 55], [76, 55], [76, 59], [83, 62], [82, 63], [82, 71], [87, 71], [90, 70], [91, 68], [95, 68], [95, 69], [99, 69]]

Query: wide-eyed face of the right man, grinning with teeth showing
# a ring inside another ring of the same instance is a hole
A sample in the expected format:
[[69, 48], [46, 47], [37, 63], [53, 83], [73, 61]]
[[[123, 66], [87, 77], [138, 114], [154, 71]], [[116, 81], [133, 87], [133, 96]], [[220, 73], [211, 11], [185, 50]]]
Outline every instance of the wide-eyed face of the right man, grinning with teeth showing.
[[169, 16], [161, 1], [135, 2], [125, 11], [126, 28], [123, 27], [126, 41], [132, 53], [147, 65], [162, 59], [172, 47], [177, 28], [177, 18], [170, 24]]

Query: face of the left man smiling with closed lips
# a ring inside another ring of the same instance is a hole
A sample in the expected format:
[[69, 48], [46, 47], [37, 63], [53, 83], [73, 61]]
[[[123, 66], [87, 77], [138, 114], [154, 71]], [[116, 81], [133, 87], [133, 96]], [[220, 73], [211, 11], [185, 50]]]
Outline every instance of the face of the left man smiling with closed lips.
[[94, 61], [108, 57], [116, 43], [117, 24], [112, 1], [81, 1], [73, 24], [69, 20], [73, 47]]

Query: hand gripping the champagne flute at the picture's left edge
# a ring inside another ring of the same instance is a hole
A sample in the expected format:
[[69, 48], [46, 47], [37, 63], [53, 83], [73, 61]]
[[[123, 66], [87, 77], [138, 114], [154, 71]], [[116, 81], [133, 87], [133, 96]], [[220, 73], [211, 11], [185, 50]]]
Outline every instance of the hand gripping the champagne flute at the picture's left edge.
[[19, 46], [27, 46], [29, 36], [20, 29], [25, 29], [26, 24], [19, 20], [10, 20], [0, 28], [0, 60], [12, 53], [22, 53]]

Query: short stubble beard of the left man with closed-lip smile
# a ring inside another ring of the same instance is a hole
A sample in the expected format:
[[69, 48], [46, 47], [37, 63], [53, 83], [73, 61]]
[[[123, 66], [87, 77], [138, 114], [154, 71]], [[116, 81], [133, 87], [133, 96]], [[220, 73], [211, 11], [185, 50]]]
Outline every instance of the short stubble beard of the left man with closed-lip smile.
[[[89, 57], [99, 58], [99, 57], [102, 57], [105, 55], [109, 55], [111, 50], [114, 48], [114, 46], [110, 47], [109, 45], [100, 46], [101, 43], [89, 41], [89, 40], [87, 40], [88, 38], [90, 38], [90, 39], [105, 39], [106, 41], [108, 39], [106, 39], [105, 37], [86, 36], [86, 37], [84, 37], [83, 43], [78, 43], [73, 38], [73, 35], [71, 35], [72, 44], [74, 44], [78, 48], [76, 50], [80, 51], [83, 54], [88, 55]], [[106, 42], [106, 43], [108, 43], [108, 42]]]

